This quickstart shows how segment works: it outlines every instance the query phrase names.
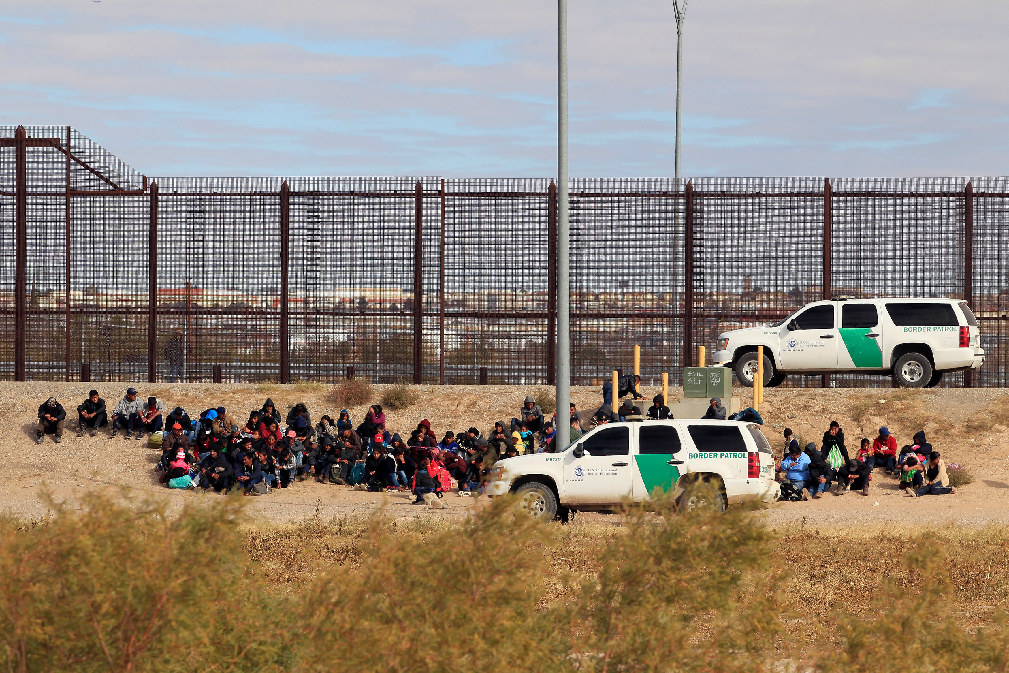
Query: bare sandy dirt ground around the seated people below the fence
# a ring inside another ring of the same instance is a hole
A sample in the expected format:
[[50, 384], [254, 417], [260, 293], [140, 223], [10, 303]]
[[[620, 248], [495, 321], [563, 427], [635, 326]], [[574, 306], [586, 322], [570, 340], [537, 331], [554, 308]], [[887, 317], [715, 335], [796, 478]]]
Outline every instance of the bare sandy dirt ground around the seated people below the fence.
[[[76, 408], [95, 387], [111, 413], [128, 383], [0, 383], [0, 414], [11, 424], [0, 435], [0, 462], [7, 478], [0, 489], [0, 510], [28, 518], [45, 515], [46, 504], [39, 496], [48, 490], [58, 500], [74, 501], [87, 489], [115, 485], [136, 495], [156, 494], [182, 503], [182, 498], [215, 498], [219, 495], [197, 491], [170, 490], [157, 484], [153, 470], [159, 451], [148, 449], [146, 441], [109, 438], [102, 429], [97, 437], [77, 437]], [[305, 403], [313, 422], [323, 414], [334, 418], [339, 413], [327, 402], [329, 385], [316, 383], [277, 384], [133, 384], [141, 398], [153, 395], [166, 410], [181, 406], [191, 415], [208, 407], [223, 405], [241, 421], [258, 410], [266, 398], [272, 398], [282, 412], [298, 402]], [[400, 411], [386, 410], [390, 432], [409, 435], [421, 419], [428, 419], [441, 437], [446, 430], [465, 431], [476, 426], [486, 431], [495, 421], [506, 424], [517, 416], [522, 401], [536, 388], [512, 385], [411, 386], [420, 394], [420, 402]], [[375, 402], [383, 386], [374, 386]], [[651, 398], [658, 388], [644, 388]], [[572, 401], [587, 418], [601, 403], [596, 386], [572, 387]], [[680, 397], [679, 388], [670, 388], [670, 398]], [[736, 395], [749, 404], [749, 388], [737, 388]], [[34, 443], [38, 406], [53, 396], [67, 409], [67, 430], [63, 443], [51, 436], [41, 445]], [[370, 404], [370, 403], [369, 403]], [[356, 425], [364, 416], [366, 405], [351, 408]], [[1009, 523], [1009, 390], [1000, 388], [890, 390], [857, 388], [779, 388], [765, 391], [762, 413], [764, 434], [776, 454], [783, 446], [783, 428], [791, 428], [800, 444], [819, 442], [831, 420], [845, 431], [850, 449], [862, 437], [872, 439], [880, 426], [888, 426], [898, 446], [911, 443], [914, 432], [924, 430], [928, 441], [946, 463], [965, 465], [975, 481], [958, 489], [955, 495], [920, 498], [902, 494], [896, 480], [876, 471], [869, 496], [861, 493], [825, 495], [808, 502], [772, 506], [761, 517], [775, 526], [791, 523], [815, 524], [819, 528], [844, 528], [865, 524], [894, 522], [901, 525], [938, 524], [948, 521], [961, 526]], [[410, 504], [409, 493], [383, 495], [355, 491], [349, 486], [324, 485], [314, 480], [297, 482], [288, 489], [251, 499], [252, 511], [264, 521], [286, 523], [310, 517], [367, 513], [384, 506], [396, 516], [414, 517], [431, 514], [427, 508]], [[472, 499], [446, 495], [447, 510], [438, 516], [465, 516], [474, 506]], [[586, 518], [599, 515], [584, 515]], [[602, 518], [602, 517], [600, 517]]]

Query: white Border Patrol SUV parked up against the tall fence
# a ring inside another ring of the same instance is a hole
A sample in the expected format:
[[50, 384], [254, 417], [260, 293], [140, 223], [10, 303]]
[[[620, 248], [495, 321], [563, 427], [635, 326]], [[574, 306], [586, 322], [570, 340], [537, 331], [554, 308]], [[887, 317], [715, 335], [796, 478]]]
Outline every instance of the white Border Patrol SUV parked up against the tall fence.
[[858, 371], [893, 375], [906, 387], [932, 387], [946, 371], [985, 362], [978, 320], [967, 302], [944, 299], [834, 299], [807, 304], [777, 325], [725, 332], [715, 365], [744, 385], [764, 346], [764, 384], [786, 374]]

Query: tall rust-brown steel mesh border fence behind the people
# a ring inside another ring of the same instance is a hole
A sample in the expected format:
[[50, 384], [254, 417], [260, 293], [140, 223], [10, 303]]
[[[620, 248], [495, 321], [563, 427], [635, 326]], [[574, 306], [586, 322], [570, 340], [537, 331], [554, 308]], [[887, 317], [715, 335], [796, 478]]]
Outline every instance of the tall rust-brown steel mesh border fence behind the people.
[[[572, 180], [571, 375], [678, 382], [720, 332], [839, 296], [966, 300], [1009, 383], [1009, 179]], [[544, 180], [148, 180], [0, 127], [0, 378], [553, 384]], [[889, 386], [862, 374], [785, 385]]]

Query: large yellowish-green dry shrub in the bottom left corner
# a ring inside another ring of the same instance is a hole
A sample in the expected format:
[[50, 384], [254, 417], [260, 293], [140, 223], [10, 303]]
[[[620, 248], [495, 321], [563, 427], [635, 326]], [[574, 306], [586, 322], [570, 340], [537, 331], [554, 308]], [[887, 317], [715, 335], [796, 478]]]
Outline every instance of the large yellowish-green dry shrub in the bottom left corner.
[[[0, 660], [21, 671], [277, 666], [276, 600], [250, 581], [240, 498], [118, 504], [85, 494], [40, 530], [0, 524]], [[239, 664], [240, 665], [240, 664]]]

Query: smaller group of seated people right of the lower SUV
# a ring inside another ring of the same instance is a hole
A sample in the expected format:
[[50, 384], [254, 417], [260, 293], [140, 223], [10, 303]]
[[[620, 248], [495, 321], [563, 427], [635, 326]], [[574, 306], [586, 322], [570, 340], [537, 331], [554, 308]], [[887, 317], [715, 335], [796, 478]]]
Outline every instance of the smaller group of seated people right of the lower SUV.
[[852, 489], [868, 495], [869, 482], [877, 467], [885, 474], [897, 476], [900, 489], [912, 497], [957, 492], [949, 485], [942, 456], [925, 441], [923, 430], [915, 433], [914, 444], [904, 445], [898, 451], [896, 438], [889, 428], [882, 427], [871, 442], [862, 439], [854, 456], [849, 455], [845, 431], [836, 421], [830, 422], [819, 447], [810, 442], [800, 448], [791, 428], [786, 428], [784, 435], [784, 455], [775, 467], [782, 482], [783, 499], [819, 498], [830, 490], [831, 484], [837, 495]]

